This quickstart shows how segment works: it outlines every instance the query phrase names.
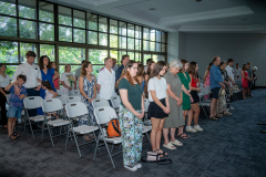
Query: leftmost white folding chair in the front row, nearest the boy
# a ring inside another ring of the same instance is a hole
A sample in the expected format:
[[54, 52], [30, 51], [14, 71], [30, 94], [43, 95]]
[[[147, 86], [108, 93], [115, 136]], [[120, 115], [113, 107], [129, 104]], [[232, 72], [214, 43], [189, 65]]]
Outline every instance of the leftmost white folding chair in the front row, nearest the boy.
[[[30, 117], [28, 111], [42, 107], [42, 105], [41, 105], [42, 101], [43, 101], [43, 98], [41, 96], [29, 96], [29, 97], [25, 97], [23, 100], [25, 115], [27, 115], [27, 119], [24, 122], [24, 133], [25, 133], [25, 125], [27, 125], [27, 122], [28, 122], [28, 124], [30, 125], [30, 131], [31, 131], [33, 139], [35, 139], [35, 137], [34, 137], [34, 134], [33, 134], [33, 131], [32, 131], [31, 123], [37, 124], [37, 123], [44, 122], [44, 115], [38, 115], [38, 116]], [[49, 116], [47, 118], [49, 119], [49, 118], [51, 118], [51, 116]]]

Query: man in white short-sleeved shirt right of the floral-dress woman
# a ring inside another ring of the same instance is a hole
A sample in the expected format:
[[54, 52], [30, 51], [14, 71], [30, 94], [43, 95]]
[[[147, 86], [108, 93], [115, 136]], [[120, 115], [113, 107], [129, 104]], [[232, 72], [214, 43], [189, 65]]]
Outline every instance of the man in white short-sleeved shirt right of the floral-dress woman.
[[114, 96], [115, 72], [113, 71], [113, 61], [111, 58], [104, 59], [104, 69], [98, 74], [98, 86], [100, 88], [100, 98], [106, 98], [111, 104], [111, 97]]

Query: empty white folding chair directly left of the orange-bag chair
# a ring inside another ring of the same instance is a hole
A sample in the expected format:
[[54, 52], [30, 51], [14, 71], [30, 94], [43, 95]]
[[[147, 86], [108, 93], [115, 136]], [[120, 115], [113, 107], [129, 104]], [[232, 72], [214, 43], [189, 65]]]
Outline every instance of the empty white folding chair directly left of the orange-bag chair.
[[[66, 146], [68, 146], [68, 139], [69, 139], [69, 137], [71, 137], [70, 134], [72, 134], [74, 136], [75, 145], [76, 145], [79, 155], [81, 157], [79, 146], [83, 146], [88, 143], [83, 143], [83, 144], [79, 145], [78, 142], [76, 142], [76, 138], [78, 138], [76, 136], [93, 133], [94, 137], [96, 138], [95, 131], [98, 131], [99, 127], [98, 126], [89, 126], [89, 125], [81, 125], [81, 126], [74, 127], [74, 125], [72, 124], [72, 118], [75, 118], [75, 117], [79, 117], [79, 116], [82, 116], [82, 115], [88, 115], [89, 116], [89, 112], [88, 112], [86, 105], [84, 103], [82, 103], [82, 102], [66, 103], [65, 104], [65, 110], [66, 110], [66, 115], [68, 115], [69, 122], [70, 122], [69, 129], [68, 129], [68, 135], [66, 135], [66, 140], [65, 140], [65, 150], [66, 150]], [[89, 143], [92, 143], [92, 142], [89, 142]]]

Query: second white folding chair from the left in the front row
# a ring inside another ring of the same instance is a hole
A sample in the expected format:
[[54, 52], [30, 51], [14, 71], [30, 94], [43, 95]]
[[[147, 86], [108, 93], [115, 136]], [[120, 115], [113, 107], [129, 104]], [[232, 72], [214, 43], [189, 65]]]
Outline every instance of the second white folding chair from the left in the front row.
[[[55, 137], [55, 136], [51, 135], [50, 126], [53, 127], [53, 128], [54, 127], [61, 127], [62, 128], [63, 126], [69, 125], [69, 121], [63, 119], [63, 118], [59, 118], [59, 119], [54, 119], [54, 121], [48, 121], [48, 118], [47, 118], [48, 114], [51, 114], [53, 112], [58, 113], [60, 111], [63, 111], [63, 104], [59, 98], [44, 100], [44, 101], [41, 102], [41, 105], [42, 105], [42, 111], [43, 111], [43, 114], [44, 114], [44, 121], [42, 123], [41, 140], [43, 138], [44, 125], [47, 125], [48, 132], [49, 132], [49, 135], [50, 135], [50, 138], [51, 138], [51, 142], [52, 142], [52, 146], [54, 147], [52, 138]], [[63, 112], [63, 117], [65, 117], [64, 112]], [[60, 128], [60, 135], [61, 135], [61, 128]], [[60, 136], [60, 135], [57, 135], [57, 136]]]

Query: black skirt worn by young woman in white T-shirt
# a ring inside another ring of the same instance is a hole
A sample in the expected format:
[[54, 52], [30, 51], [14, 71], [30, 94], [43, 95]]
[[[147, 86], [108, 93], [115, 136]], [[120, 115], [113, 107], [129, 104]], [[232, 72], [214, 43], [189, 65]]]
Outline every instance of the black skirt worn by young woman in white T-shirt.
[[[166, 106], [165, 98], [160, 100], [160, 102]], [[168, 114], [165, 114], [163, 108], [161, 108], [155, 102], [151, 102], [147, 110], [147, 117], [165, 118], [168, 117]]]

